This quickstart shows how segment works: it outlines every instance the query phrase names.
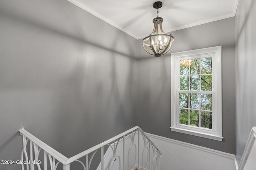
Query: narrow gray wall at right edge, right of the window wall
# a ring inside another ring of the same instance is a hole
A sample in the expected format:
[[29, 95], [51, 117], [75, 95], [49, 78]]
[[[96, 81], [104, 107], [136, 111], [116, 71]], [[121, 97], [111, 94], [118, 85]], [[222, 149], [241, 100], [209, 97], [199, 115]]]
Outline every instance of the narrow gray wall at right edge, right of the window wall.
[[236, 158], [240, 162], [256, 126], [256, 2], [240, 0], [236, 12]]

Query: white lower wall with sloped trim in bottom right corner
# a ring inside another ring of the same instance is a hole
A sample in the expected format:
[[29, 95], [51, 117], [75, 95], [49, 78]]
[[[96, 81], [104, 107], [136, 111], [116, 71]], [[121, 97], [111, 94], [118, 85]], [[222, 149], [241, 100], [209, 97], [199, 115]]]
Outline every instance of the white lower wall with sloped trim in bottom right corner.
[[[244, 153], [239, 164], [238, 170], [254, 170], [256, 169], [255, 159], [256, 153], [251, 153], [251, 150], [256, 148], [256, 127], [254, 126], [250, 132], [248, 141], [246, 143], [246, 147], [244, 149]], [[255, 149], [254, 149], [255, 151]], [[252, 161], [251, 161], [252, 160]], [[254, 169], [253, 169], [254, 168]]]

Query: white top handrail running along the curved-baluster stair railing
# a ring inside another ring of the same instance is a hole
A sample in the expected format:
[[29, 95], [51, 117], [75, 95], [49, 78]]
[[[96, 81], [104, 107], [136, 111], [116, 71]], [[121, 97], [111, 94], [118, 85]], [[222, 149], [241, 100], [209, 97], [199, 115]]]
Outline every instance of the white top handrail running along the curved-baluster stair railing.
[[104, 147], [105, 145], [114, 142], [118, 139], [120, 139], [121, 137], [124, 137], [125, 135], [132, 133], [134, 131], [137, 131], [138, 133], [141, 132], [142, 135], [144, 135], [144, 137], [146, 137], [146, 139], [148, 139], [148, 141], [150, 142], [150, 144], [152, 146], [154, 146], [156, 148], [156, 150], [159, 151], [160, 156], [162, 156], [162, 152], [158, 149], [158, 147], [156, 147], [156, 145], [149, 139], [149, 137], [144, 133], [144, 131], [142, 131], [142, 129], [138, 126], [135, 126], [127, 131], [124, 131], [123, 133], [120, 133], [119, 135], [116, 135], [115, 137], [112, 137], [94, 147], [91, 147], [90, 149], [84, 150], [83, 152], [76, 154], [70, 158], [67, 158], [66, 156], [64, 156], [63, 154], [61, 154], [60, 152], [56, 151], [55, 149], [53, 149], [52, 147], [50, 147], [49, 145], [47, 145], [46, 143], [42, 142], [40, 139], [36, 138], [34, 135], [32, 135], [31, 133], [29, 133], [28, 131], [26, 131], [25, 129], [20, 129], [19, 132], [21, 135], [25, 135], [28, 139], [30, 139], [33, 143], [35, 143], [36, 145], [38, 145], [40, 148], [42, 148], [43, 150], [45, 150], [46, 152], [48, 152], [50, 155], [52, 155], [54, 158], [56, 158], [57, 160], [60, 161], [60, 163], [62, 163], [63, 165], [68, 165], [76, 160], [78, 160], [79, 158], [82, 158], [86, 155], [88, 155], [89, 153], [100, 149], [102, 147]]

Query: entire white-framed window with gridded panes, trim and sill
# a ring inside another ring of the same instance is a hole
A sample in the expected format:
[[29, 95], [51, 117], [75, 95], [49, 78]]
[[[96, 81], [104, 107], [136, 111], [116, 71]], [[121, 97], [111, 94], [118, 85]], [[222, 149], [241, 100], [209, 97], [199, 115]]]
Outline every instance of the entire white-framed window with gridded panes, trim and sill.
[[222, 141], [222, 48], [171, 54], [171, 130]]

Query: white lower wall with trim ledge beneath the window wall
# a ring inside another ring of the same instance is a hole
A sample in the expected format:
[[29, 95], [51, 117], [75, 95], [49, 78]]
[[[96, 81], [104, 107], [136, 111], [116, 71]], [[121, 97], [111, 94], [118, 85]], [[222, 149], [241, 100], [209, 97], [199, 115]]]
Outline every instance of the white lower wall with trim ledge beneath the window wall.
[[[236, 156], [234, 154], [209, 149], [158, 135], [146, 133], [162, 151], [160, 169], [184, 170], [234, 170]], [[181, 160], [182, 158], [182, 160]], [[191, 168], [193, 167], [193, 168]]]

